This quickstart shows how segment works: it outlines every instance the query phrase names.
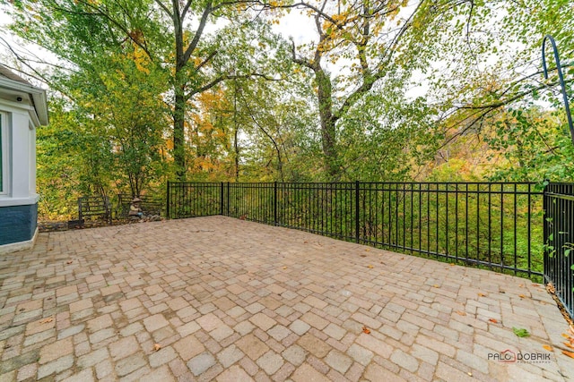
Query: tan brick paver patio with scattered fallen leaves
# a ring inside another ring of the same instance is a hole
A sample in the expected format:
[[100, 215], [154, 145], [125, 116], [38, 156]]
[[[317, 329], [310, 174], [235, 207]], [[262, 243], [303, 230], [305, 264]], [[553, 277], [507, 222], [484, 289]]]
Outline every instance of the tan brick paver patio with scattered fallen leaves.
[[574, 376], [543, 285], [229, 217], [43, 233], [0, 264], [1, 381]]

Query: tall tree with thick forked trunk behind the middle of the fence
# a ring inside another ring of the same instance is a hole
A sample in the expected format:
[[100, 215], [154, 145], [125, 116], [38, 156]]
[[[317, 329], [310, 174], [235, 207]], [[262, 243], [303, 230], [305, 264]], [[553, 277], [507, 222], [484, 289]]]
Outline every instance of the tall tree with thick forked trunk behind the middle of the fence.
[[[291, 55], [314, 79], [327, 178], [336, 180], [342, 173], [340, 121], [377, 81], [386, 76], [406, 81], [402, 72], [410, 73], [430, 58], [420, 38], [431, 30], [431, 21], [448, 12], [448, 2], [442, 3], [324, 0], [278, 5], [305, 9], [315, 22], [317, 40], [300, 47], [292, 43]], [[334, 64], [338, 74], [330, 70]]]

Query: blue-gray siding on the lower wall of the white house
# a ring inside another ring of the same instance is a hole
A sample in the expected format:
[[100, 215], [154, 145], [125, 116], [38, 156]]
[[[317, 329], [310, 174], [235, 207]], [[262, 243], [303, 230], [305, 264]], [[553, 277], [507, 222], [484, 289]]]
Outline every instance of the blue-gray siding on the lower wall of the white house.
[[0, 207], [0, 245], [30, 240], [37, 222], [38, 204]]

